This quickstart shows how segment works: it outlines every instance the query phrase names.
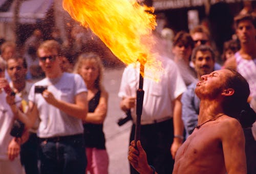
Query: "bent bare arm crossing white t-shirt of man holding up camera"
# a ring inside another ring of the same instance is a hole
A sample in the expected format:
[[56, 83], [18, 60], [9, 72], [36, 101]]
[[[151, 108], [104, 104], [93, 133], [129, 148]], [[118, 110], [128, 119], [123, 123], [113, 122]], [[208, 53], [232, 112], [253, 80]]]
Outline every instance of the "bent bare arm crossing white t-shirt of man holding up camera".
[[47, 90], [42, 93], [42, 96], [45, 98], [46, 102], [59, 108], [59, 110], [66, 114], [82, 120], [86, 119], [88, 112], [87, 92], [77, 94], [75, 96], [75, 103], [58, 100]]

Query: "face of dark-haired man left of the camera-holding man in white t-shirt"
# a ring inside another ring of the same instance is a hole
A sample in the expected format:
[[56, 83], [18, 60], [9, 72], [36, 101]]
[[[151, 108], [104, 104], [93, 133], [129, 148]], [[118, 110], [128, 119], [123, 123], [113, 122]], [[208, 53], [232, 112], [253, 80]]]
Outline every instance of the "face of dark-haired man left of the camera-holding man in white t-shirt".
[[27, 69], [23, 67], [22, 59], [9, 59], [7, 61], [7, 72], [14, 83], [26, 79]]

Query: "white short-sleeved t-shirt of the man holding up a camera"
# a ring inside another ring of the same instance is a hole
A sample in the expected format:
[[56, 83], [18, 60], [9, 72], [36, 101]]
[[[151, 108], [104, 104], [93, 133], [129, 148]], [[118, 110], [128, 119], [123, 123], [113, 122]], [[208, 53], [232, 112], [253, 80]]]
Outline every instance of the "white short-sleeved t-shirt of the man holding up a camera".
[[47, 90], [56, 99], [74, 103], [77, 94], [88, 91], [82, 77], [78, 74], [63, 73], [56, 79], [45, 78], [36, 82], [29, 93], [29, 100], [36, 104], [39, 112], [40, 123], [37, 129], [39, 138], [82, 134], [81, 119], [69, 116], [57, 107], [48, 104], [41, 94], [34, 93], [36, 85], [47, 85]]

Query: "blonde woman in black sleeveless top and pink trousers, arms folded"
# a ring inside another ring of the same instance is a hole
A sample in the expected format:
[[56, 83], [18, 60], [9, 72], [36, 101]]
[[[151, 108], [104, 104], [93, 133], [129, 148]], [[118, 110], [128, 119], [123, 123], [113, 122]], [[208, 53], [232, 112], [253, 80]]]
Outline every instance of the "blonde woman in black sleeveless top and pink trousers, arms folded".
[[88, 88], [89, 111], [83, 122], [86, 143], [87, 172], [108, 173], [109, 156], [105, 147], [103, 122], [108, 109], [109, 94], [102, 85], [103, 64], [99, 55], [93, 52], [78, 57], [75, 73], [82, 76]]

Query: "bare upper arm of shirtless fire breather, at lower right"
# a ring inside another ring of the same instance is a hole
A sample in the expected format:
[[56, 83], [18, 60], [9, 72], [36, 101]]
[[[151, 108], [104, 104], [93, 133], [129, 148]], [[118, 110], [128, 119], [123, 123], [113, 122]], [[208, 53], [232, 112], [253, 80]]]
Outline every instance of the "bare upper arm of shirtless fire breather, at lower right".
[[222, 148], [227, 173], [246, 173], [245, 138], [241, 124], [232, 119], [222, 126]]

